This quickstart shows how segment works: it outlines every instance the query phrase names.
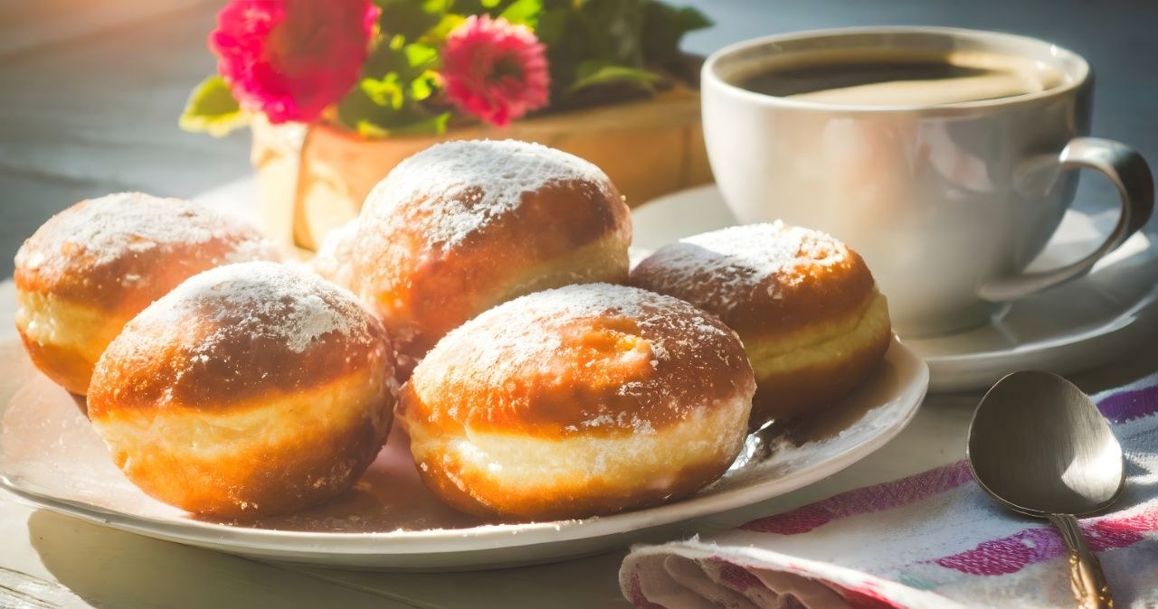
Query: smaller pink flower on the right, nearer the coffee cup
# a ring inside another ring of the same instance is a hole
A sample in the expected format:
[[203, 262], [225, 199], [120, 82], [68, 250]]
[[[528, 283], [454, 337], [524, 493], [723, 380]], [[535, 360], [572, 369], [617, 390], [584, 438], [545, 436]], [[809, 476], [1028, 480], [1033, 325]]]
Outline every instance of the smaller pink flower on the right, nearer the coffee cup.
[[501, 127], [547, 105], [545, 49], [522, 25], [470, 16], [447, 36], [442, 81], [459, 110]]

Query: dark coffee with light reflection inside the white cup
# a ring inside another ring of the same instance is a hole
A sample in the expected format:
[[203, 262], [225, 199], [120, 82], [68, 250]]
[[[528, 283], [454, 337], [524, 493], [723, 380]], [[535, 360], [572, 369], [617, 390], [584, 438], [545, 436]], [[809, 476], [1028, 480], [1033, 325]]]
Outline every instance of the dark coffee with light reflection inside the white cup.
[[1061, 81], [1050, 68], [995, 54], [850, 53], [782, 60], [738, 84], [763, 95], [830, 104], [939, 105], [1026, 95]]

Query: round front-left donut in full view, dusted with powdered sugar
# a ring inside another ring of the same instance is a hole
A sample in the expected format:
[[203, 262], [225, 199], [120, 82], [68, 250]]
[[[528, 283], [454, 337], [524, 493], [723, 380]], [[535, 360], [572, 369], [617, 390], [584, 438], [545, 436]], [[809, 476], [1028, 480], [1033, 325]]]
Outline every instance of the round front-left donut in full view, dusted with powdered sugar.
[[221, 519], [293, 512], [349, 489], [386, 443], [393, 356], [351, 292], [228, 265], [125, 326], [96, 364], [89, 417], [156, 499]]

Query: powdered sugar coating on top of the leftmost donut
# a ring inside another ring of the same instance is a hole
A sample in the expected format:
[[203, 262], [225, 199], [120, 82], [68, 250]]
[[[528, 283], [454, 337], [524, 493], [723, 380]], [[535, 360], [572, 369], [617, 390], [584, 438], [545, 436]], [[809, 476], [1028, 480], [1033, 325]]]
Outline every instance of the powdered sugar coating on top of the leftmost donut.
[[17, 266], [60, 266], [74, 257], [57, 250], [83, 248], [86, 263], [95, 267], [127, 255], [171, 244], [201, 244], [232, 238], [234, 250], [225, 261], [276, 258], [274, 246], [240, 220], [182, 199], [142, 193], [117, 193], [82, 201], [53, 216], [22, 247]]

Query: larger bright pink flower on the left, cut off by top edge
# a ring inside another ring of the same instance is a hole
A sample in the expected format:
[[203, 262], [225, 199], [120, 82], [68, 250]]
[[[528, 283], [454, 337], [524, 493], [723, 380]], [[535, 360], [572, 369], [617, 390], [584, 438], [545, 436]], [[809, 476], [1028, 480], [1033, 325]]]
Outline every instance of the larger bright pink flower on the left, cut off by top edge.
[[210, 49], [242, 107], [308, 122], [358, 81], [376, 18], [369, 0], [232, 0]]

